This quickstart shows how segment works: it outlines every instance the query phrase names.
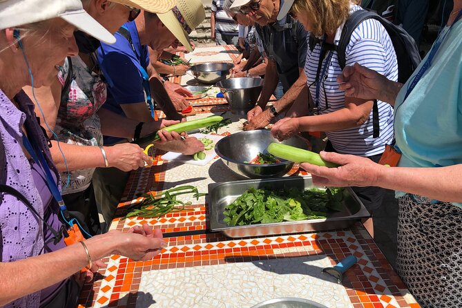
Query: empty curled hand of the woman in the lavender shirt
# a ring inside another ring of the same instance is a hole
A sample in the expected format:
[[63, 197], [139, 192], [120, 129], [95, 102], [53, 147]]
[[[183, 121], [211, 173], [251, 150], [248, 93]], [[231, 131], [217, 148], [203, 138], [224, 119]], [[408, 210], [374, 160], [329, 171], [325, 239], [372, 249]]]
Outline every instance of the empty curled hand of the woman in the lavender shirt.
[[157, 256], [166, 247], [160, 229], [149, 227], [148, 224], [135, 226], [127, 233], [109, 231], [117, 242], [115, 254], [126, 256], [135, 261], [147, 261]]

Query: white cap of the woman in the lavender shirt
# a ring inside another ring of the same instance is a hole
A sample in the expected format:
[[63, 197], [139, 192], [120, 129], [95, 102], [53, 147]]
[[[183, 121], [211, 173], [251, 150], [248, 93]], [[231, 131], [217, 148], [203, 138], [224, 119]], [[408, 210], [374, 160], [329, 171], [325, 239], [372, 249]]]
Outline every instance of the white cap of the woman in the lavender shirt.
[[0, 29], [55, 17], [61, 17], [99, 41], [115, 43], [115, 37], [84, 10], [81, 0], [0, 0]]

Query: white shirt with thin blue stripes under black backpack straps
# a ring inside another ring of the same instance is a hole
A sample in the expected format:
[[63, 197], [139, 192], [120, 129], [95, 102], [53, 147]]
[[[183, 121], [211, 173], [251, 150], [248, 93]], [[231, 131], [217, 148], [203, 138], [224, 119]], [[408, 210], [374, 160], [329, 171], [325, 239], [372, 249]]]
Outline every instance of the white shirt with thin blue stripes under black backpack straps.
[[[352, 6], [350, 14], [360, 10], [360, 6]], [[334, 44], [338, 44], [338, 39], [342, 32], [343, 25], [336, 32]], [[309, 40], [309, 37], [307, 37]], [[309, 45], [309, 44], [307, 44]], [[307, 85], [311, 97], [316, 101], [316, 73], [320, 57], [320, 44], [311, 51], [307, 48], [307, 61], [305, 62], [305, 74], [307, 75]], [[329, 55], [332, 53], [331, 55]], [[329, 61], [330, 59], [330, 61]], [[351, 40], [345, 52], [346, 65], [351, 66], [358, 63], [378, 73], [385, 75], [390, 80], [398, 79], [398, 63], [392, 40], [389, 38], [387, 30], [383, 28], [379, 21], [367, 19], [360, 23], [354, 30]], [[329, 61], [329, 63], [327, 63]], [[328, 51], [321, 72], [327, 67], [325, 77], [320, 77], [320, 89], [318, 97], [318, 108], [320, 114], [331, 113], [341, 108], [345, 108], [345, 93], [338, 89], [336, 78], [342, 70], [338, 64], [336, 51]], [[325, 97], [327, 97], [328, 109], [326, 109]], [[390, 144], [393, 139], [393, 108], [385, 102], [378, 101], [378, 119], [380, 135], [373, 137], [372, 110], [369, 119], [361, 126], [346, 128], [340, 131], [326, 132], [330, 142], [338, 153], [353, 154], [363, 157], [383, 153], [385, 144]]]

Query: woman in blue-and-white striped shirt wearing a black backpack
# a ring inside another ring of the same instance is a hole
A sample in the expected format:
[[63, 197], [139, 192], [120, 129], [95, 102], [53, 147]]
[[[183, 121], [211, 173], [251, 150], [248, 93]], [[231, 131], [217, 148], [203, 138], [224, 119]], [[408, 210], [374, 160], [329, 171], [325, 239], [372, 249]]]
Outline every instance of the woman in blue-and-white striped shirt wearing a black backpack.
[[[318, 39], [312, 50], [307, 48], [305, 61], [309, 104], [306, 100], [305, 104], [294, 104], [287, 117], [273, 126], [271, 133], [282, 140], [300, 131], [325, 131], [329, 138], [325, 151], [369, 157], [378, 162], [385, 145], [391, 144], [394, 137], [392, 107], [377, 102], [380, 131], [378, 137], [374, 136], [373, 102], [345, 97], [336, 81], [342, 69], [335, 46], [340, 41], [345, 21], [352, 12], [361, 10], [360, 6], [349, 0], [286, 0], [285, 6], [290, 8], [292, 2], [294, 17]], [[379, 21], [367, 19], [360, 23], [349, 41], [345, 59], [347, 65], [358, 63], [388, 79], [398, 79], [393, 44]], [[307, 114], [309, 116], [300, 116]], [[382, 204], [385, 189], [368, 186], [353, 187], [353, 190], [373, 216]], [[365, 222], [365, 227], [374, 234], [372, 219]]]

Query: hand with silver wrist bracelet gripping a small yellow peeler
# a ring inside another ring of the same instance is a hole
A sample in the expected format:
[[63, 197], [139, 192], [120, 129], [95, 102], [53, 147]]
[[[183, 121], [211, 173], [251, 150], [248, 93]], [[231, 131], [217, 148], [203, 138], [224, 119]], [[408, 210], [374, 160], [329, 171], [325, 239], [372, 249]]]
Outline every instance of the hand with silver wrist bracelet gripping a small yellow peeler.
[[146, 164], [148, 166], [153, 164], [151, 157], [146, 155], [137, 144], [115, 144], [113, 146], [104, 146], [104, 150], [108, 157], [109, 166], [122, 171], [136, 170]]

